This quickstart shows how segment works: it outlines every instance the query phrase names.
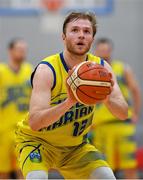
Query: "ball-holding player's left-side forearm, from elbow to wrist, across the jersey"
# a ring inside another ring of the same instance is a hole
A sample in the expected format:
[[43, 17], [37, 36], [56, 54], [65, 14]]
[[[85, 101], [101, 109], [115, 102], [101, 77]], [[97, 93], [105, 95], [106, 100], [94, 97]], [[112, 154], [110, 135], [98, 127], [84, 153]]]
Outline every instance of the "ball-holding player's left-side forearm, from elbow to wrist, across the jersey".
[[61, 104], [49, 109], [31, 112], [29, 118], [30, 127], [35, 131], [48, 127], [58, 121], [72, 106], [73, 104], [66, 99]]

